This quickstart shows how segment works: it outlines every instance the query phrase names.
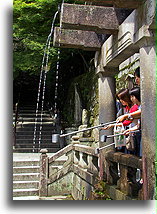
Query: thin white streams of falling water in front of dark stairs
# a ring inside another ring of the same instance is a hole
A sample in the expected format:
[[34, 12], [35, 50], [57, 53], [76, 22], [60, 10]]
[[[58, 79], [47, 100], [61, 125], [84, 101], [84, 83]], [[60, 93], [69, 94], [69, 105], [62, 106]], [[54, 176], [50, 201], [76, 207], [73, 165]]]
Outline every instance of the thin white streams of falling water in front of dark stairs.
[[[38, 95], [37, 95], [37, 105], [36, 105], [36, 116], [35, 116], [35, 125], [34, 125], [34, 135], [33, 135], [33, 152], [36, 144], [37, 139], [37, 122], [38, 122], [38, 112], [39, 112], [39, 102], [41, 97], [41, 114], [40, 114], [40, 126], [39, 126], [39, 148], [41, 144], [41, 133], [42, 133], [42, 122], [43, 122], [43, 110], [44, 110], [44, 99], [45, 99], [45, 84], [46, 84], [46, 77], [48, 72], [48, 61], [49, 61], [49, 53], [50, 53], [50, 43], [51, 38], [54, 33], [54, 24], [57, 17], [59, 10], [55, 13], [52, 21], [51, 31], [47, 38], [46, 45], [44, 48], [44, 54], [42, 59], [41, 65], [41, 72], [40, 72], [40, 80], [39, 80], [39, 87], [38, 87]], [[56, 86], [55, 86], [55, 109], [57, 108], [57, 91], [58, 91], [58, 68], [59, 68], [59, 54], [60, 51], [58, 50], [58, 59], [57, 59], [57, 71], [56, 71]]]

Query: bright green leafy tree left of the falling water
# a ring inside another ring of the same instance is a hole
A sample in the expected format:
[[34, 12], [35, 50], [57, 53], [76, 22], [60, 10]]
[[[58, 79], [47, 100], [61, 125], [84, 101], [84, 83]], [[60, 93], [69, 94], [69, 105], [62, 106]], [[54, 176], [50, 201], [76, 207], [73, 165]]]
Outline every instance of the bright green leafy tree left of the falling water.
[[[47, 36], [58, 9], [57, 0], [14, 0], [13, 4], [13, 71], [39, 74]], [[56, 23], [59, 21], [56, 20]], [[51, 60], [57, 51], [51, 47]]]

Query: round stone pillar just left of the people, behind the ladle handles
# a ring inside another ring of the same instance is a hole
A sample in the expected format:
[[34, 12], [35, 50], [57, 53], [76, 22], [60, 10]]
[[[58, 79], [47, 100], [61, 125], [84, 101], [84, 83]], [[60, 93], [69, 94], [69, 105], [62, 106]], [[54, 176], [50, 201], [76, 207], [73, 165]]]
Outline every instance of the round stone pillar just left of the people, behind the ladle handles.
[[[102, 69], [102, 68], [101, 68]], [[118, 69], [105, 69], [103, 72], [98, 72], [99, 79], [99, 123], [105, 123], [114, 121], [116, 115], [116, 103], [115, 103], [115, 94], [116, 94], [116, 85], [114, 74]], [[113, 134], [113, 129], [102, 130], [100, 131], [101, 135], [110, 135]], [[107, 142], [99, 142], [99, 147], [113, 143], [113, 138], [107, 139]], [[109, 150], [113, 150], [114, 147], [108, 147], [102, 150], [99, 154], [99, 167], [100, 167], [100, 179], [107, 178], [107, 162], [104, 158], [105, 153]]]

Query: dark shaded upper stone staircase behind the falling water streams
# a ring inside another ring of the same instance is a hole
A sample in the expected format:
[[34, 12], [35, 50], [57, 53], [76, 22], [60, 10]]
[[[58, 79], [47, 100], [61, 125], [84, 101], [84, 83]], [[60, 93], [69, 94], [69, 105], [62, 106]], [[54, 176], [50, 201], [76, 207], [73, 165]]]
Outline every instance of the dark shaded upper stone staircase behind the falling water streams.
[[[13, 121], [14, 121], [13, 116]], [[44, 111], [42, 115], [42, 131], [41, 141], [40, 137], [40, 118], [41, 114], [38, 113], [36, 121], [36, 138], [34, 139], [35, 127], [35, 106], [25, 106], [19, 109], [18, 123], [16, 128], [16, 144], [13, 152], [39, 152], [40, 149], [46, 148], [48, 152], [57, 152], [64, 145], [53, 144], [51, 140], [52, 133], [55, 132], [54, 120], [48, 111]]]

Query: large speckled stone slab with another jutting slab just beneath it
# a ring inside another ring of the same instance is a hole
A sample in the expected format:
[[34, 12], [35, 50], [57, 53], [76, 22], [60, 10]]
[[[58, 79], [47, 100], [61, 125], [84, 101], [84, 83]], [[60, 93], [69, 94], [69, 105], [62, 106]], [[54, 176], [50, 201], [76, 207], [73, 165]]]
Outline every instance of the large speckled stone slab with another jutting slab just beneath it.
[[119, 22], [113, 7], [63, 4], [61, 25], [68, 29], [115, 34], [118, 31]]

